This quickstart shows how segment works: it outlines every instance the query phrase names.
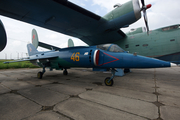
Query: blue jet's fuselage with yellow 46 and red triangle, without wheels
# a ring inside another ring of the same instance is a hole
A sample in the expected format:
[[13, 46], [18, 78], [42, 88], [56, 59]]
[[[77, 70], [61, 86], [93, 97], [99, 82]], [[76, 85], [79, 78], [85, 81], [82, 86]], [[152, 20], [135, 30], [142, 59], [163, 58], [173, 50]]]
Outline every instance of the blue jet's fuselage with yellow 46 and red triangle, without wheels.
[[[47, 56], [47, 57], [45, 57]], [[43, 59], [39, 59], [43, 58]], [[115, 44], [71, 47], [30, 56], [33, 63], [50, 69], [86, 68], [157, 68], [170, 67], [169, 62], [127, 53]]]

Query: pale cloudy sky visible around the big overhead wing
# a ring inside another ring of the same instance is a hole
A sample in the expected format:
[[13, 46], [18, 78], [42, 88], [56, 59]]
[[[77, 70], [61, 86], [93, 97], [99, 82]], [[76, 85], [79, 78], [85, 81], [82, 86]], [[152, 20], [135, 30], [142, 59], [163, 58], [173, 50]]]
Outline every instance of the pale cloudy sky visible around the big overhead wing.
[[[100, 16], [104, 16], [111, 10], [116, 3], [125, 3], [129, 0], [69, 0], [91, 12]], [[180, 0], [145, 0], [146, 4], [152, 4], [151, 9], [147, 10], [149, 27], [151, 30], [159, 27], [180, 23]], [[84, 42], [71, 36], [63, 35], [61, 33], [53, 32], [38, 26], [30, 25], [24, 22], [13, 20], [7, 17], [0, 16], [7, 33], [7, 46], [0, 52], [0, 59], [13, 58], [17, 59], [26, 57], [28, 42], [31, 42], [31, 31], [36, 29], [38, 32], [39, 41], [55, 45], [57, 47], [67, 47], [67, 41], [72, 38], [75, 46], [86, 45]], [[143, 18], [136, 23], [130, 25], [124, 32], [128, 32], [132, 28], [145, 26]], [[38, 48], [39, 51], [44, 51], [43, 48]]]

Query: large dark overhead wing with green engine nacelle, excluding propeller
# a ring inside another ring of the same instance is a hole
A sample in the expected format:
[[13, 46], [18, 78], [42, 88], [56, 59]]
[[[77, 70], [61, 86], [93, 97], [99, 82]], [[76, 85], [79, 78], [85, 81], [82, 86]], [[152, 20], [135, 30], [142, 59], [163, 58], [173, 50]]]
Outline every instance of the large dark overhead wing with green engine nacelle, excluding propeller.
[[1, 0], [0, 15], [77, 37], [88, 45], [97, 45], [126, 37], [120, 28], [141, 17], [139, 7], [138, 15], [135, 12], [134, 1], [138, 0], [101, 17], [68, 0]]

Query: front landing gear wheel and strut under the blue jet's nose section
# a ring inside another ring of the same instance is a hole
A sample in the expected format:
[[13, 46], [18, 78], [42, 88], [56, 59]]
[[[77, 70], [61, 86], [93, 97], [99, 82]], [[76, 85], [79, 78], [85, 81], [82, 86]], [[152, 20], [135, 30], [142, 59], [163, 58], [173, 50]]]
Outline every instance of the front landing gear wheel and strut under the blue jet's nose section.
[[114, 68], [111, 69], [112, 76], [111, 76], [111, 77], [107, 77], [107, 78], [104, 80], [104, 83], [105, 83], [106, 86], [112, 86], [112, 85], [114, 84], [113, 78], [114, 78], [114, 76], [115, 76], [115, 72], [116, 72], [116, 71], [117, 71], [117, 70], [114, 69]]

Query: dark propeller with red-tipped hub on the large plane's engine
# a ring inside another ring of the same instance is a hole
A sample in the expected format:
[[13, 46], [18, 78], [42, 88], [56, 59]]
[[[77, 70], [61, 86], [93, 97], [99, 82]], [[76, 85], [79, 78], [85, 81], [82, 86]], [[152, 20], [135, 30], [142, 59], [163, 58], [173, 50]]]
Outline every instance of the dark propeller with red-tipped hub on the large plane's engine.
[[144, 21], [145, 21], [146, 29], [147, 29], [147, 34], [149, 35], [149, 26], [148, 26], [148, 19], [147, 19], [146, 10], [151, 8], [152, 5], [151, 4], [145, 5], [144, 0], [141, 0], [141, 3], [142, 3], [141, 11], [143, 11]]

